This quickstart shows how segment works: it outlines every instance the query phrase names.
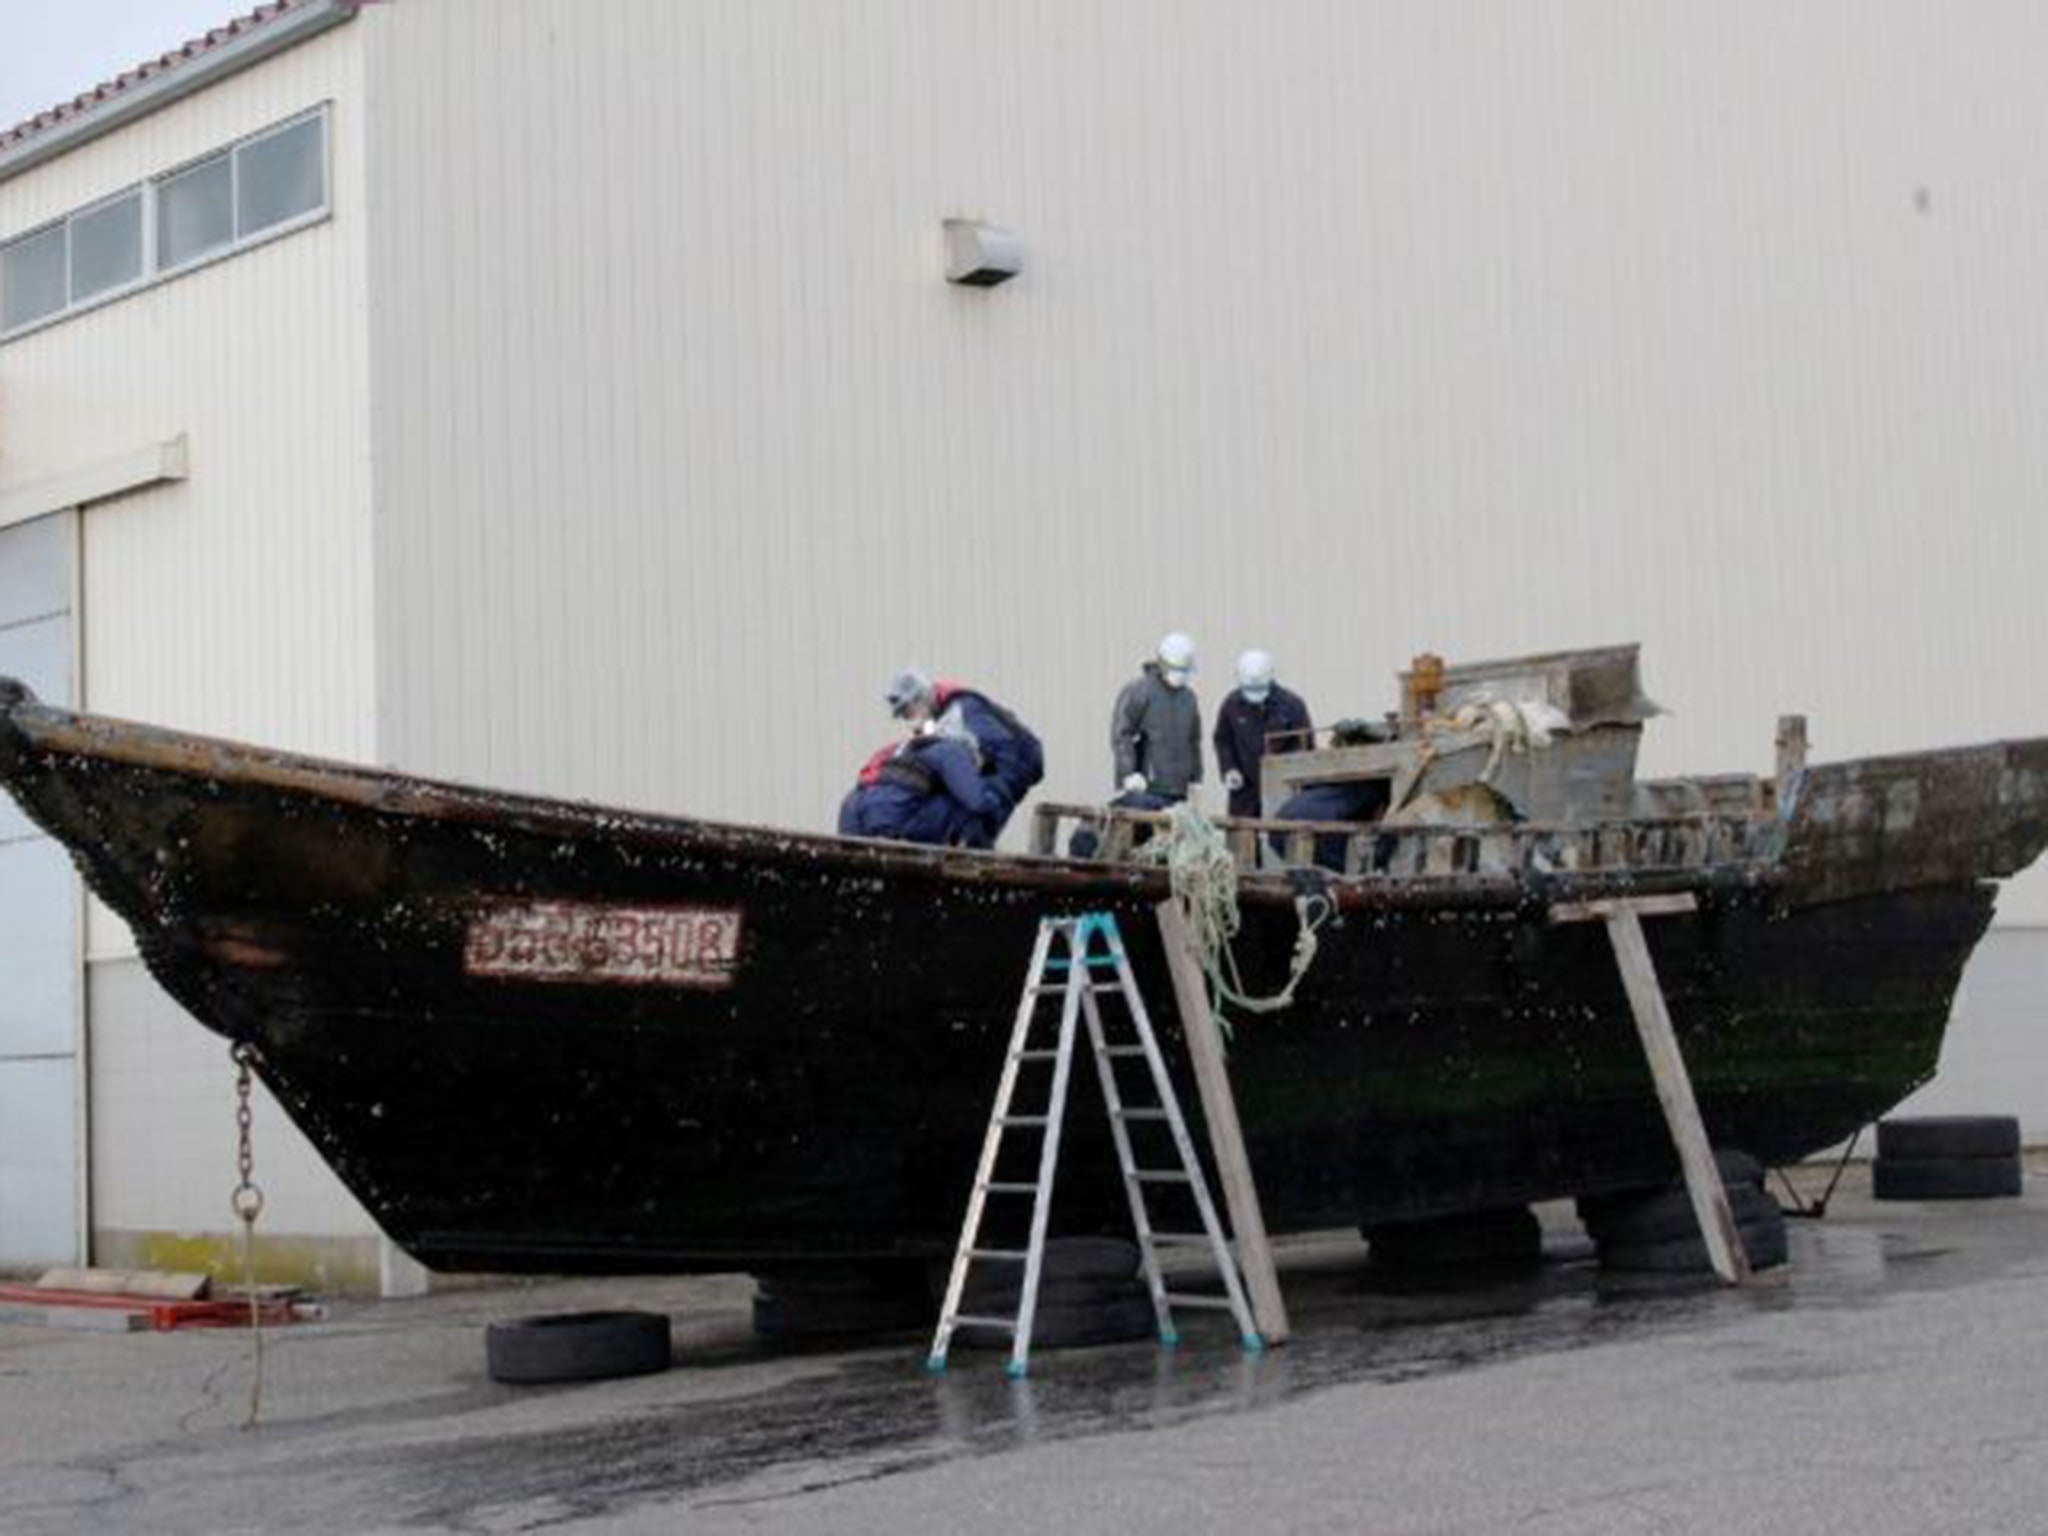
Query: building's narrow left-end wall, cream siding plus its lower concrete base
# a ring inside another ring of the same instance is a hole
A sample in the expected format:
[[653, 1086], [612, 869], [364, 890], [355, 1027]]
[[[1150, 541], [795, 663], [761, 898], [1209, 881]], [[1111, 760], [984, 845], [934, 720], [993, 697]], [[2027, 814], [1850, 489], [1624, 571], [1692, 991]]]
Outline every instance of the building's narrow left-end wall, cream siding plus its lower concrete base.
[[[0, 182], [6, 238], [334, 102], [326, 223], [0, 342], [0, 494], [186, 440], [184, 481], [84, 510], [88, 709], [377, 756], [360, 74], [342, 27]], [[227, 1047], [96, 905], [88, 956], [102, 1247], [225, 1231]], [[258, 1157], [268, 1229], [375, 1231], [268, 1098]]]

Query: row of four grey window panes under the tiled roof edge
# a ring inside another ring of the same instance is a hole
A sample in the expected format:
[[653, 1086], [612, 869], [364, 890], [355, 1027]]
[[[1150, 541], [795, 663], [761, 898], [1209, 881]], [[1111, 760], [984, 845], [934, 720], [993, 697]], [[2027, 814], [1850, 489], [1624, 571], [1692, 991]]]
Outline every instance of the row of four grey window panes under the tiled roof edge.
[[0, 338], [328, 213], [328, 109], [0, 244]]

